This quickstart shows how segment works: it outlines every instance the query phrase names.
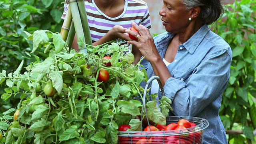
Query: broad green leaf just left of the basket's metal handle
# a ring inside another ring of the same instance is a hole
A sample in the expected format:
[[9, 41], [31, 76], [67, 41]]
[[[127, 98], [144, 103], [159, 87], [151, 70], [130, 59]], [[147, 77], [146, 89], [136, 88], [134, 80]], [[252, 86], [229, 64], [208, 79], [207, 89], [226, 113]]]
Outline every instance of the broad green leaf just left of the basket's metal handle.
[[116, 104], [120, 107], [121, 112], [125, 114], [131, 114], [132, 116], [140, 115], [139, 108], [131, 101], [118, 100]]

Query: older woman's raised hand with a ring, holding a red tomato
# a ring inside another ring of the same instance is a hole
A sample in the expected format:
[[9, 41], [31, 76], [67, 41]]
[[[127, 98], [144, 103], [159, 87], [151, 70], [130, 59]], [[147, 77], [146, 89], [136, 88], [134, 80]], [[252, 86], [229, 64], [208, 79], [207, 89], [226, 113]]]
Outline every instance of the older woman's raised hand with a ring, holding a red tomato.
[[138, 38], [138, 41], [129, 40], [128, 44], [136, 46], [140, 50], [142, 56], [144, 56], [149, 62], [154, 61], [155, 58], [161, 58], [156, 50], [156, 45], [154, 44], [154, 40], [149, 29], [143, 25], [137, 25], [135, 22], [132, 22], [132, 26], [134, 26], [140, 34], [126, 29], [126, 33]]

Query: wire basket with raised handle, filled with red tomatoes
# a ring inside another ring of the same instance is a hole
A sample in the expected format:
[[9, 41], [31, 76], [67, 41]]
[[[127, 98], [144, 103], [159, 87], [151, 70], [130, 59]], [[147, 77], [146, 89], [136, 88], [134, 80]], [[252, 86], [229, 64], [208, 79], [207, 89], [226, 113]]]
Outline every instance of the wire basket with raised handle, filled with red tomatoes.
[[[160, 88], [162, 87], [158, 76]], [[152, 80], [148, 80], [145, 92]], [[163, 92], [163, 88], [162, 92]], [[145, 97], [144, 92], [144, 97]], [[145, 111], [148, 126], [141, 124], [141, 131], [129, 131], [130, 125], [122, 125], [118, 128], [118, 144], [202, 144], [204, 129], [209, 126], [206, 119], [190, 116], [168, 116], [166, 125], [150, 125], [146, 114], [146, 106], [143, 98], [143, 109]], [[142, 113], [143, 115], [143, 113]]]

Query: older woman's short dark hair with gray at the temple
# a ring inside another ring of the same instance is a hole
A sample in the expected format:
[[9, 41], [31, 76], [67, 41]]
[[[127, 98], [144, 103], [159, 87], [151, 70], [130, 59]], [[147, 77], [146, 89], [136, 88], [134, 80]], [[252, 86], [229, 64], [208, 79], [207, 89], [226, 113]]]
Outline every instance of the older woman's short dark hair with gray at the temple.
[[186, 10], [199, 6], [199, 17], [202, 24], [212, 24], [222, 17], [225, 9], [221, 0], [181, 0]]

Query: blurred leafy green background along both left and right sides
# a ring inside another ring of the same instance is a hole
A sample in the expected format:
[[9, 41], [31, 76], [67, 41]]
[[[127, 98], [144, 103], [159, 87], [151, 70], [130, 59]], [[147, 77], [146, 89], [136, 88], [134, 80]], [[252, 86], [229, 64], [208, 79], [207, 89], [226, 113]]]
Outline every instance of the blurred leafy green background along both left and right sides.
[[[23, 31], [60, 32], [63, 0], [0, 0], [0, 71], [14, 72], [24, 65], [46, 58], [40, 47], [32, 51], [32, 42]], [[228, 87], [223, 93], [220, 116], [230, 144], [255, 144], [256, 129], [256, 0], [227, 4], [224, 17], [211, 25], [232, 47], [233, 61]], [[22, 73], [22, 71], [21, 71]], [[4, 93], [0, 85], [0, 95]], [[2, 112], [15, 108], [20, 100], [0, 99]]]

